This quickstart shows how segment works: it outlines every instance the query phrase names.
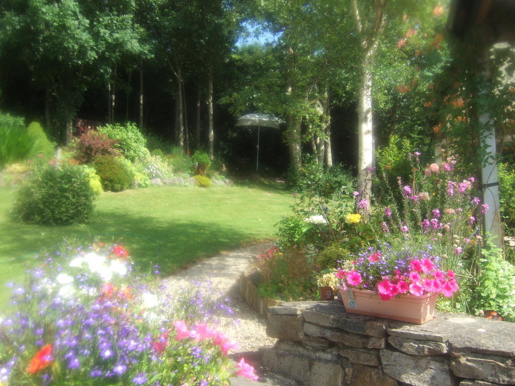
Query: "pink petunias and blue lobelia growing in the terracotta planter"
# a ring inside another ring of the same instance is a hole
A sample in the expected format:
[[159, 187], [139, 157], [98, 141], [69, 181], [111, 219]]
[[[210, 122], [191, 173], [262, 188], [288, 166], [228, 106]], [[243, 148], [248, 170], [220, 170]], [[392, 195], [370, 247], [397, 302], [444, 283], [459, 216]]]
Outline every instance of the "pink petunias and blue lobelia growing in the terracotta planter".
[[458, 290], [454, 272], [442, 271], [437, 256], [425, 251], [411, 253], [408, 249], [394, 251], [386, 244], [384, 247], [370, 247], [355, 260], [346, 261], [344, 268], [335, 273], [342, 287], [376, 291], [383, 300], [402, 294], [442, 293], [451, 297]]

